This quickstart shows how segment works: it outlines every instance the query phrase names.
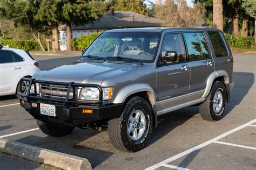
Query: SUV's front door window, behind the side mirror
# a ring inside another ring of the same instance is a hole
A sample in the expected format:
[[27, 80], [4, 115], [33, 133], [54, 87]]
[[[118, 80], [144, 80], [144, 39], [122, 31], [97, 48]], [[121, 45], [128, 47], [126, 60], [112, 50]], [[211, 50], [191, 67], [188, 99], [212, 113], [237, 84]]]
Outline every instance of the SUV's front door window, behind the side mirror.
[[[169, 34], [165, 36], [163, 45], [161, 47], [162, 55], [165, 55], [167, 51], [176, 51], [178, 54], [177, 60], [174, 62], [185, 61], [185, 49], [180, 34]], [[174, 63], [168, 62], [168, 63]]]

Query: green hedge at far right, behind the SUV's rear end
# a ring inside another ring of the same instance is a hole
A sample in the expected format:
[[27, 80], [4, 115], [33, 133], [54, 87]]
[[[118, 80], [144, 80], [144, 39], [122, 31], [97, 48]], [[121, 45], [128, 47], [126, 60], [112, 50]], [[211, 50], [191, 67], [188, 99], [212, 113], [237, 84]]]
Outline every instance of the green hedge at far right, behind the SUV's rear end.
[[253, 37], [238, 37], [235, 38], [231, 34], [224, 33], [225, 38], [227, 39], [228, 44], [231, 47], [239, 49], [249, 49], [254, 46]]

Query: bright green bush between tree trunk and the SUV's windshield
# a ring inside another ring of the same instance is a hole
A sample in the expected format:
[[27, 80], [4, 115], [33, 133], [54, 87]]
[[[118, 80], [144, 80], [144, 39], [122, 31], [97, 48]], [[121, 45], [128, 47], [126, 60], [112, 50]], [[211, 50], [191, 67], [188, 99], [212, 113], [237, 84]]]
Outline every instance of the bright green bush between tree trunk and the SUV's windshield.
[[76, 39], [72, 39], [71, 45], [75, 50], [82, 50], [88, 48], [91, 43], [99, 36], [100, 33], [88, 34], [86, 36], [80, 36]]

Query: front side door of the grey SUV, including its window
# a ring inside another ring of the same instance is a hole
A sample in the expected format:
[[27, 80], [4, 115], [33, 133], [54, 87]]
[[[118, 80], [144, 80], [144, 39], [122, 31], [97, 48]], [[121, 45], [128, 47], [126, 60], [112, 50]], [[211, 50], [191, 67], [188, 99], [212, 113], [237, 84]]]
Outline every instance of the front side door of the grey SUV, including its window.
[[166, 51], [176, 51], [178, 57], [173, 62], [158, 62], [156, 94], [158, 111], [187, 102], [187, 95], [190, 92], [190, 67], [186, 61], [181, 33], [166, 34], [160, 55], [165, 55]]

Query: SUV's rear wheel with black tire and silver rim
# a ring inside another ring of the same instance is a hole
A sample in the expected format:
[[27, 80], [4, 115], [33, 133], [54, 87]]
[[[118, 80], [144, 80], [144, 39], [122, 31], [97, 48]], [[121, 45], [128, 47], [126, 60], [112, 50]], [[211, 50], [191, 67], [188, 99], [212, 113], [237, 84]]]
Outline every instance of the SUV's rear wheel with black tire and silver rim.
[[223, 82], [216, 81], [206, 97], [199, 105], [201, 117], [206, 121], [219, 121], [225, 116], [227, 93]]

